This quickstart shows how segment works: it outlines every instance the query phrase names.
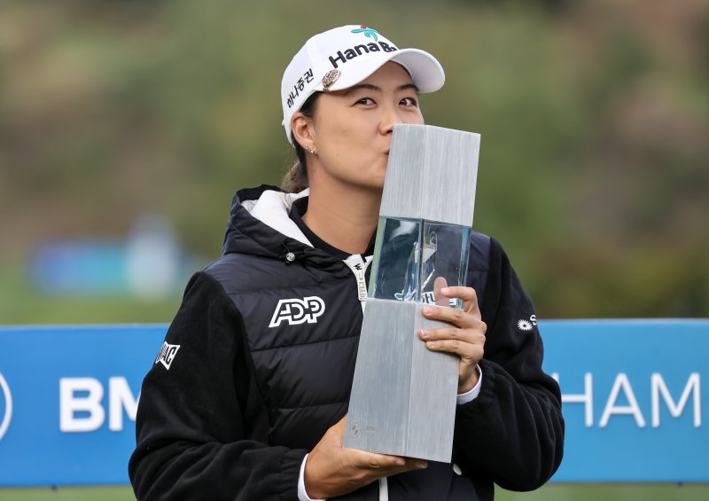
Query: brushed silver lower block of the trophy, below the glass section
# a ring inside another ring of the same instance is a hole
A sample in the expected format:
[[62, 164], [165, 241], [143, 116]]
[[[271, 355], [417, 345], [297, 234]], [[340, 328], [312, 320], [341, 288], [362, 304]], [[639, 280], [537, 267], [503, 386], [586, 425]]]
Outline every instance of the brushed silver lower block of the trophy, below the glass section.
[[450, 462], [457, 356], [425, 348], [427, 320], [413, 301], [367, 299], [347, 415], [347, 448]]

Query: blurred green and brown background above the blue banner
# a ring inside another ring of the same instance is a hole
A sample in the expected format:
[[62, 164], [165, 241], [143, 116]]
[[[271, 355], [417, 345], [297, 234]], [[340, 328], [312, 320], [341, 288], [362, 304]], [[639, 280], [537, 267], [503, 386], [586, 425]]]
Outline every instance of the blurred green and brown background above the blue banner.
[[343, 24], [446, 69], [425, 119], [481, 134], [474, 228], [538, 317], [709, 315], [705, 0], [3, 0], [0, 324], [169, 322]]

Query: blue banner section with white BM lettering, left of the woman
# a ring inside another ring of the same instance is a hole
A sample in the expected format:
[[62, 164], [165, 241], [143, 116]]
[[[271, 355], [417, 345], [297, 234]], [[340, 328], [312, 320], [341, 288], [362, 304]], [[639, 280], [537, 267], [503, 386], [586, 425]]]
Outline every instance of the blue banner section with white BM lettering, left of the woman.
[[166, 325], [0, 328], [0, 486], [128, 483]]

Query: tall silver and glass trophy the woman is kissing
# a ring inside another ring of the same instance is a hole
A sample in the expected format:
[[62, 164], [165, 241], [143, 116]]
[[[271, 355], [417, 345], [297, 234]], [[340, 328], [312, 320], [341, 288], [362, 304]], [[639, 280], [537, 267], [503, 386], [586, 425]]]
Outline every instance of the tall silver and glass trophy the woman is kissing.
[[464, 286], [479, 135], [429, 125], [393, 129], [344, 447], [449, 462], [459, 357], [425, 348], [426, 304]]

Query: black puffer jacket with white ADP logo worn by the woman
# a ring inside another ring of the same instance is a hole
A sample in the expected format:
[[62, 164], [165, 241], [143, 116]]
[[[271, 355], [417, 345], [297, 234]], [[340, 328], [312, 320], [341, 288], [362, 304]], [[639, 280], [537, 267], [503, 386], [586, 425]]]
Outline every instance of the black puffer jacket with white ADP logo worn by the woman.
[[[347, 412], [357, 280], [304, 243], [288, 216], [294, 197], [238, 192], [224, 254], [191, 278], [143, 383], [129, 463], [138, 499], [297, 500], [303, 458]], [[484, 290], [488, 328], [479, 396], [456, 411], [462, 474], [430, 463], [391, 477], [392, 501], [492, 499], [493, 482], [535, 489], [561, 461], [559, 389], [541, 371], [531, 301], [499, 244], [479, 233], [468, 276]], [[375, 482], [343, 498], [378, 496]]]

